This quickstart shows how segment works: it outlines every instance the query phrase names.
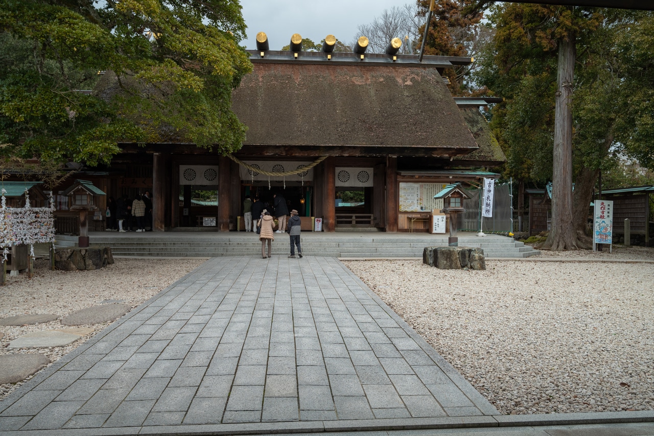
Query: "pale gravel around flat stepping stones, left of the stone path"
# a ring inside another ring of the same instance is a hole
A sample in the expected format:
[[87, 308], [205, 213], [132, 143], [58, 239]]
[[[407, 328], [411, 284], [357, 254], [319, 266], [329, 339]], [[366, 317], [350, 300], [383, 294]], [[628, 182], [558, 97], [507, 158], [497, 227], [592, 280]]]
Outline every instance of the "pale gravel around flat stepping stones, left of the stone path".
[[[181, 260], [116, 259], [97, 271], [50, 271], [46, 259], [35, 261], [35, 275], [7, 275], [7, 284], [0, 287], [0, 318], [22, 314], [55, 314], [61, 318], [103, 301], [116, 300], [137, 307], [152, 295], [167, 288], [201, 265], [205, 259]], [[25, 333], [43, 330], [69, 329], [60, 319], [31, 326], [0, 326], [0, 356], [5, 354], [45, 354], [50, 363], [71, 352], [111, 322], [94, 324], [94, 333], [72, 344], [51, 348], [7, 348], [10, 341]], [[41, 370], [43, 371], [43, 369]], [[32, 376], [33, 377], [33, 376]], [[29, 377], [31, 378], [31, 377]], [[27, 378], [24, 381], [29, 380]], [[17, 384], [0, 384], [0, 400], [13, 392]]]

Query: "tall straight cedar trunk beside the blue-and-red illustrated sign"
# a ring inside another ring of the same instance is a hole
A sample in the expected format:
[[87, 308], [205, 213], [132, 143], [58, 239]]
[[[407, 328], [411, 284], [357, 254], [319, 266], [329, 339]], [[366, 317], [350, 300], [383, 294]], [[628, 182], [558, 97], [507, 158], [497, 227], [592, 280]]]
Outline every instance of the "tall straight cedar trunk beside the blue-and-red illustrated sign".
[[575, 35], [568, 31], [559, 40], [559, 89], [554, 118], [554, 168], [552, 174], [552, 226], [543, 248], [577, 250], [572, 223], [572, 80], [576, 58]]

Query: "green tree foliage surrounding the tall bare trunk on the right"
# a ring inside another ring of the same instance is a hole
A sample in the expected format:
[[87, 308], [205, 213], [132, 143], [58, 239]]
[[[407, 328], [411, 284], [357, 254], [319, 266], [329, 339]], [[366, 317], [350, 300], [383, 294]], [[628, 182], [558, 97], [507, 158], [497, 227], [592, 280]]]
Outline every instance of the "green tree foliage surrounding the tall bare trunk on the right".
[[649, 165], [654, 82], [643, 65], [651, 65], [645, 53], [654, 49], [651, 12], [504, 4], [492, 9], [489, 22], [496, 35], [479, 57], [476, 79], [505, 98], [492, 111], [491, 127], [508, 157], [507, 176], [551, 178], [555, 48], [564, 28], [577, 35], [574, 168], [607, 169], [610, 150]]

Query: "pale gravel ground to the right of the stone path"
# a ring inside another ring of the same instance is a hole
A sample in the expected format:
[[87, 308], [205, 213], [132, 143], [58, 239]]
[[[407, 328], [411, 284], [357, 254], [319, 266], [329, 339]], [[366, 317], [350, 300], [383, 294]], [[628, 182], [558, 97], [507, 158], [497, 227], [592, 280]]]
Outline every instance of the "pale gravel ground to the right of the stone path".
[[654, 410], [654, 250], [538, 258], [345, 264], [503, 414]]

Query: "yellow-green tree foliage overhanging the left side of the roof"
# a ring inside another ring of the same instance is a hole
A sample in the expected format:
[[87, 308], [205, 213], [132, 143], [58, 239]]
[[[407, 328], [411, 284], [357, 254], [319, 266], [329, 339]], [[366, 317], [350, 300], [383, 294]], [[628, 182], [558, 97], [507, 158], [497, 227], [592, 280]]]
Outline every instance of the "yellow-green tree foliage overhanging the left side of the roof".
[[120, 142], [237, 150], [244, 35], [234, 0], [0, 0], [0, 158], [97, 165]]

